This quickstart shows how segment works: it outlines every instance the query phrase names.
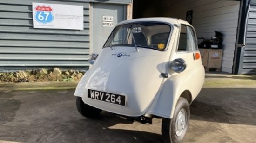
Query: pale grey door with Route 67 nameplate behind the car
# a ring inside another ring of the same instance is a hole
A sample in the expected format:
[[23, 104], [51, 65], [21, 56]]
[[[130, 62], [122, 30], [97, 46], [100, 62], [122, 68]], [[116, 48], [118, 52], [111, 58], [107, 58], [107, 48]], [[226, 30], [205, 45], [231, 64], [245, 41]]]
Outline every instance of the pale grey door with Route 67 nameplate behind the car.
[[90, 53], [99, 54], [115, 25], [126, 20], [126, 7], [117, 4], [91, 4]]

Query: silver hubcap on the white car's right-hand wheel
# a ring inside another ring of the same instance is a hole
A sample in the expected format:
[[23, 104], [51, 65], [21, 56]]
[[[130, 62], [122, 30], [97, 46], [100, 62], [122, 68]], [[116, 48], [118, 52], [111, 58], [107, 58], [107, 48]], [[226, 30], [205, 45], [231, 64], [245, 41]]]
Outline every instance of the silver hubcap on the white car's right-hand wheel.
[[186, 116], [187, 116], [187, 113], [185, 109], [182, 109], [177, 116], [176, 123], [175, 123], [175, 131], [178, 137], [180, 137], [184, 131], [184, 128], [186, 125]]

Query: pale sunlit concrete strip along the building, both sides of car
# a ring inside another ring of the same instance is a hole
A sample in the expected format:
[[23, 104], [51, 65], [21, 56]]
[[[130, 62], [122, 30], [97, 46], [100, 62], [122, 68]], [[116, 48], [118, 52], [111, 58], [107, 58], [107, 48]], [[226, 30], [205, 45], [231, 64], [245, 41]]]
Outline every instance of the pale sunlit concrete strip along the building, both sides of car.
[[[79, 81], [0, 83], [0, 90], [53, 90], [75, 89]], [[203, 88], [256, 88], [256, 75], [232, 75], [224, 72], [207, 72]]]

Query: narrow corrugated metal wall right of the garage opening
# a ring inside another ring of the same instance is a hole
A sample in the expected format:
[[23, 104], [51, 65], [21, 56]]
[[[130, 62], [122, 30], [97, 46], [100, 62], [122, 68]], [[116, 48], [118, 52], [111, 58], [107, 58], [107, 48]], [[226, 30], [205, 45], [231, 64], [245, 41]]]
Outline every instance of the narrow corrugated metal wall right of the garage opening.
[[249, 9], [242, 74], [256, 74], [256, 0], [251, 0]]

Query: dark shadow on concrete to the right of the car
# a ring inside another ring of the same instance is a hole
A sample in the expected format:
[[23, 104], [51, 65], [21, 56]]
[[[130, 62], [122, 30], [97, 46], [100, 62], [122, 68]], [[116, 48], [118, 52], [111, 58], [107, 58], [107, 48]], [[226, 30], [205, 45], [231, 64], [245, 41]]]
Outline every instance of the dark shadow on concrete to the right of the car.
[[256, 125], [256, 88], [202, 88], [190, 105], [191, 119]]

